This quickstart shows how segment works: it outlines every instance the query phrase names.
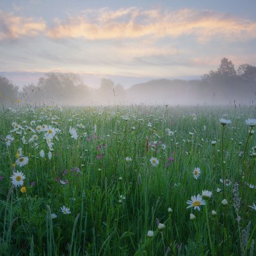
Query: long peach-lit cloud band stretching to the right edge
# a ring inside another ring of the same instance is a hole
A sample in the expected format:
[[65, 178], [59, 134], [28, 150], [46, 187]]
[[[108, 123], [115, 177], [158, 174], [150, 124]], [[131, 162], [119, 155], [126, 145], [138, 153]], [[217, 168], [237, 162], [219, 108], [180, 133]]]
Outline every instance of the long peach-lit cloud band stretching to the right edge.
[[86, 38], [87, 40], [109, 40], [153, 36], [195, 36], [205, 42], [216, 36], [230, 40], [248, 40], [256, 37], [256, 22], [238, 19], [225, 13], [210, 10], [85, 10], [81, 15], [58, 20], [47, 31], [50, 38]]

